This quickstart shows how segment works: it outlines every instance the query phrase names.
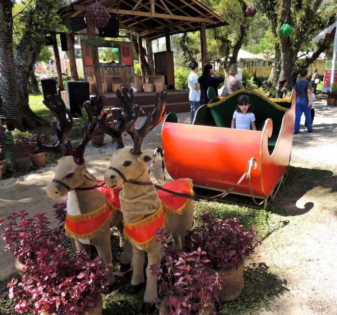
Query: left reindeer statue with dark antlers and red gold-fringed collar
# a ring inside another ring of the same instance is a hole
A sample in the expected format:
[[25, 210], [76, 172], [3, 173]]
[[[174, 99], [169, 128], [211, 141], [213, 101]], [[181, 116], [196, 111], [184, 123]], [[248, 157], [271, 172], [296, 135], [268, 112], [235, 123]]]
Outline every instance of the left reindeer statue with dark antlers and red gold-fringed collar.
[[[115, 200], [106, 201], [98, 189], [97, 179], [88, 171], [84, 160], [84, 151], [90, 139], [97, 132], [94, 116], [100, 117], [102, 99], [100, 96], [91, 97], [84, 103], [89, 116], [89, 126], [83, 126], [83, 138], [76, 148], [72, 148], [67, 138], [72, 130], [72, 115], [66, 109], [65, 103], [58, 96], [47, 96], [43, 101], [45, 106], [57, 117], [57, 125], [51, 124], [55, 132], [55, 141], [51, 145], [35, 142], [36, 151], [51, 152], [62, 156], [55, 169], [55, 177], [47, 185], [49, 198], [58, 199], [67, 193], [67, 218], [65, 230], [75, 239], [76, 249], [89, 250], [89, 245], [96, 247], [98, 255], [105, 263], [112, 263], [110, 242], [110, 227], [116, 226], [123, 232], [122, 213], [119, 211], [118, 195]], [[122, 104], [123, 105], [123, 104]], [[125, 115], [119, 115], [117, 125], [130, 121], [132, 111], [123, 107]], [[118, 194], [119, 191], [115, 191]], [[124, 242], [123, 253], [120, 258], [121, 269], [129, 270], [132, 259], [132, 246]], [[113, 268], [110, 267], [110, 285], [114, 283]]]

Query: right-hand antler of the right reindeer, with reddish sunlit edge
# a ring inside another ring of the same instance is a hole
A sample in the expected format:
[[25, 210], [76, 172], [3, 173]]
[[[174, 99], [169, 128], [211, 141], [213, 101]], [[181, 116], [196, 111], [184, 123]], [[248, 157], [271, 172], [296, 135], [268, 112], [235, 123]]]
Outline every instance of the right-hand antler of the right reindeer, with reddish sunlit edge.
[[132, 120], [126, 129], [126, 132], [131, 136], [134, 142], [134, 148], [132, 149], [131, 153], [133, 154], [140, 154], [141, 146], [144, 138], [146, 135], [158, 124], [161, 123], [165, 114], [166, 114], [166, 92], [161, 91], [157, 92], [156, 97], [157, 100], [155, 102], [155, 108], [152, 113], [149, 113], [146, 119], [143, 122], [143, 125], [137, 129], [136, 128], [136, 120]]

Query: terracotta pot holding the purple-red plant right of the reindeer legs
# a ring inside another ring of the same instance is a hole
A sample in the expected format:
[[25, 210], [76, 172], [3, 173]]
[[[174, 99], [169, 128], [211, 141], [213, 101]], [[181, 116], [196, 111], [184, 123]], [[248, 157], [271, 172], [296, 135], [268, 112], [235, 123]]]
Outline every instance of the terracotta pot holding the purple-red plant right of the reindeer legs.
[[219, 292], [221, 302], [232, 301], [238, 298], [243, 290], [243, 268], [244, 260], [238, 268], [227, 270], [215, 270], [220, 275], [221, 291]]

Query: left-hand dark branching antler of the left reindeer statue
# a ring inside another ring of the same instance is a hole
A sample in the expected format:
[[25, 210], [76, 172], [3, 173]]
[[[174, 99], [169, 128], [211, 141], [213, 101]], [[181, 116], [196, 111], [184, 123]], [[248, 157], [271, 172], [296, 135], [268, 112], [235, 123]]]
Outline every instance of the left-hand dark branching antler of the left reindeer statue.
[[[71, 143], [66, 142], [72, 130], [72, 115], [70, 110], [66, 108], [66, 104], [58, 94], [54, 96], [48, 95], [46, 100], [43, 100], [43, 104], [45, 104], [57, 118], [56, 125], [54, 123], [50, 124], [51, 129], [53, 129], [55, 133], [55, 141], [47, 145], [35, 140], [32, 144], [38, 148], [36, 151], [39, 152], [50, 152], [59, 156], [71, 155]], [[66, 145], [66, 143], [69, 144]]]

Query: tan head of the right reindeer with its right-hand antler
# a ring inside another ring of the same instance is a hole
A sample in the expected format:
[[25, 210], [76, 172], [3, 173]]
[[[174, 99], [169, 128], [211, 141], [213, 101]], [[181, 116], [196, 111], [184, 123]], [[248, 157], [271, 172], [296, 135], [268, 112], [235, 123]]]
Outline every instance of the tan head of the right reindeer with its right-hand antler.
[[131, 136], [134, 147], [122, 148], [113, 152], [110, 160], [110, 169], [104, 174], [108, 187], [118, 187], [126, 180], [137, 181], [146, 174], [146, 163], [152, 161], [151, 156], [142, 153], [141, 145], [145, 136], [157, 126], [165, 116], [166, 92], [157, 92], [155, 108], [149, 113], [143, 125], [137, 129], [137, 119], [133, 119], [127, 125], [126, 132]]

